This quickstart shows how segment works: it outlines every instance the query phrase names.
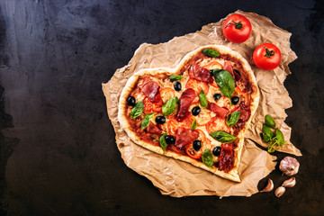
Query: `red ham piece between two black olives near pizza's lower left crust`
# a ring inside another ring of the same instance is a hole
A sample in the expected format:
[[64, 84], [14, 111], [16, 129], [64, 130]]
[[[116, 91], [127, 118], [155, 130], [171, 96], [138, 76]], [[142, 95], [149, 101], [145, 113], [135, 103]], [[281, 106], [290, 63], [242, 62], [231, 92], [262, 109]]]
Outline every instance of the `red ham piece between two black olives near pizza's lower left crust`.
[[197, 130], [191, 130], [180, 127], [177, 130], [175, 130], [175, 147], [184, 148], [186, 145], [188, 145], [198, 137], [199, 132]]

